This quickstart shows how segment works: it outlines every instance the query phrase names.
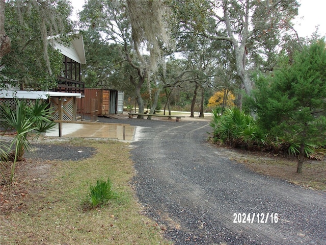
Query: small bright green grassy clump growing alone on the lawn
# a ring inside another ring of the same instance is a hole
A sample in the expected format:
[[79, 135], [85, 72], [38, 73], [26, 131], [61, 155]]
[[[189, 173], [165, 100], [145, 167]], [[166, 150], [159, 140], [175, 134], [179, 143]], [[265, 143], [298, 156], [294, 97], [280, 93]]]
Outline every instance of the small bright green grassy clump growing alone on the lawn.
[[118, 198], [118, 194], [113, 190], [112, 182], [109, 178], [107, 181], [97, 180], [96, 185], [90, 186], [90, 202], [93, 207], [106, 204], [111, 199]]

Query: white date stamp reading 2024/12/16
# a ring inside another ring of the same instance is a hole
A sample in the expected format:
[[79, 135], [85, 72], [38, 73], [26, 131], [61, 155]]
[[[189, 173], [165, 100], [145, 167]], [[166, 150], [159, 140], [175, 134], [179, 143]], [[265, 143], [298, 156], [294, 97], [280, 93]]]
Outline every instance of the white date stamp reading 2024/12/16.
[[233, 213], [233, 223], [278, 223], [278, 213]]

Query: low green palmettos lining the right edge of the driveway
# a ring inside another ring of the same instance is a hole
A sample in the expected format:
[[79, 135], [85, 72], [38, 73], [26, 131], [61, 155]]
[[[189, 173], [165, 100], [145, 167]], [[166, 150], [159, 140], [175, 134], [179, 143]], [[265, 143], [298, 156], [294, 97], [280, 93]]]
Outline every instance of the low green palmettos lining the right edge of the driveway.
[[[266, 134], [252, 116], [238, 108], [226, 109], [223, 115], [220, 114], [219, 109], [213, 110], [209, 125], [213, 128], [211, 141], [215, 144], [293, 156], [300, 153], [300, 144], [290, 139]], [[304, 152], [307, 158], [322, 160], [326, 155], [326, 148], [324, 143], [306, 143]]]

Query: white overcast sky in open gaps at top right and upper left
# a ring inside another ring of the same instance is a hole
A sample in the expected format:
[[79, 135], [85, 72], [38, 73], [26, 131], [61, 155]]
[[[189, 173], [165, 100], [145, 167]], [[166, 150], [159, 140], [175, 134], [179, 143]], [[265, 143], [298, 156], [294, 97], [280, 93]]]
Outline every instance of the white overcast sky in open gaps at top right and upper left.
[[[319, 25], [318, 33], [326, 36], [326, 0], [297, 0], [301, 4], [299, 14], [293, 21], [294, 28], [301, 37], [311, 37]], [[73, 6], [73, 13], [83, 9], [84, 0], [70, 0]]]

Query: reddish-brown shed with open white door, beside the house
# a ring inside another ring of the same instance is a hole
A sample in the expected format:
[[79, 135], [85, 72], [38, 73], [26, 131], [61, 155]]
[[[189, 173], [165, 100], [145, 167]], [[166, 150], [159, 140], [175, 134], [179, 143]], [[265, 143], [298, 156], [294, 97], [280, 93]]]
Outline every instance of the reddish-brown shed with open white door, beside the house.
[[79, 100], [80, 103], [77, 104], [77, 110], [82, 114], [104, 116], [123, 112], [122, 91], [85, 88], [84, 94], [85, 96], [83, 96], [82, 100]]

